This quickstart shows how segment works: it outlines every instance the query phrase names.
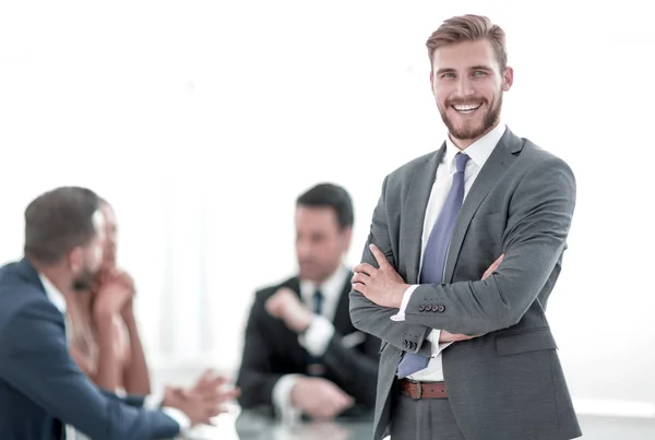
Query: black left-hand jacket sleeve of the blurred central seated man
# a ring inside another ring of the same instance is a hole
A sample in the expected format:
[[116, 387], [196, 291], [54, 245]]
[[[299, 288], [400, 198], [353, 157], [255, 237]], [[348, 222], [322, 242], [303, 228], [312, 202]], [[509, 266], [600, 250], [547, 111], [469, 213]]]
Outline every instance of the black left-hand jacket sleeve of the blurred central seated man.
[[271, 369], [271, 344], [261, 322], [263, 313], [266, 313], [264, 300], [258, 294], [246, 325], [243, 356], [237, 379], [237, 387], [241, 389], [238, 400], [243, 408], [263, 405], [274, 407], [273, 388], [283, 376]]

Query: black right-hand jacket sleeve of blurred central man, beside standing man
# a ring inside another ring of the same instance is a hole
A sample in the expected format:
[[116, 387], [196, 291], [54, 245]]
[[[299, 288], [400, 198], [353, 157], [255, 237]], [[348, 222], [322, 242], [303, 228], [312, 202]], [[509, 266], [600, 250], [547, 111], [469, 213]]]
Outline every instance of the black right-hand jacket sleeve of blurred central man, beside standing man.
[[376, 406], [379, 343], [367, 336], [360, 347], [346, 347], [343, 336], [335, 333], [322, 358], [325, 367], [337, 377], [343, 390], [368, 408]]

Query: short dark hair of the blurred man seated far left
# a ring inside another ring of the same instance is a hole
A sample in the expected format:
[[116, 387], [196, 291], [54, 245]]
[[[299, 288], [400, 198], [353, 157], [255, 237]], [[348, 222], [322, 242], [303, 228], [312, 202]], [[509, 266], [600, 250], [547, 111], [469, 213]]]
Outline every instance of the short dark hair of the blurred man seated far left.
[[58, 262], [96, 234], [93, 215], [99, 199], [86, 188], [62, 187], [36, 198], [25, 210], [25, 255]]

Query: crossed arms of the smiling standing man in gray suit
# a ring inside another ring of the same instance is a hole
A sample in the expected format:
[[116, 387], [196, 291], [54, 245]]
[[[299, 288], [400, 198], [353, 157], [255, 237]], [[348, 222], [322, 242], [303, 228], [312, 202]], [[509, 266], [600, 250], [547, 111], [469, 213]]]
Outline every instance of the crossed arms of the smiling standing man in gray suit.
[[[519, 322], [553, 272], [565, 247], [575, 200], [573, 174], [561, 160], [528, 171], [512, 197], [503, 235], [504, 259], [488, 277], [452, 284], [419, 285], [412, 294], [405, 321], [391, 322], [408, 285], [395, 271], [385, 210], [385, 190], [373, 213], [362, 264], [356, 267], [350, 317], [356, 328], [398, 347], [407, 338], [425, 348], [432, 329], [480, 335]], [[379, 248], [378, 255], [373, 253]], [[402, 255], [401, 255], [402, 258]], [[424, 300], [444, 305], [443, 313], [420, 313]]]

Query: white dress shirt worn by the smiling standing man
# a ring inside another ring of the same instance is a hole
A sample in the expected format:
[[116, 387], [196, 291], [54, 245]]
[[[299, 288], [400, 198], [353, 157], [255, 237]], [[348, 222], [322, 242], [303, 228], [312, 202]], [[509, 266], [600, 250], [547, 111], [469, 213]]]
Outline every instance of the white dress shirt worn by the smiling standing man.
[[[466, 168], [464, 169], [464, 199], [468, 194], [468, 190], [473, 186], [473, 182], [477, 178], [480, 169], [496, 148], [498, 141], [505, 132], [505, 124], [499, 123], [490, 132], [485, 134], [483, 138], [478, 139], [474, 143], [472, 143], [468, 147], [466, 147], [463, 153], [467, 154], [469, 159], [466, 163]], [[422, 259], [426, 251], [426, 246], [428, 245], [428, 239], [430, 237], [430, 233], [432, 231], [432, 227], [437, 222], [437, 217], [445, 203], [445, 199], [453, 183], [453, 175], [455, 174], [455, 155], [460, 153], [460, 148], [453, 144], [450, 136], [445, 139], [445, 154], [441, 159], [441, 163], [437, 167], [437, 177], [434, 179], [434, 183], [432, 185], [432, 191], [430, 192], [430, 199], [428, 201], [428, 206], [426, 210], [426, 217], [424, 219], [424, 229], [421, 237], [421, 251], [420, 251], [420, 267], [422, 269]], [[397, 314], [393, 316], [391, 319], [393, 321], [404, 321], [405, 320], [405, 309], [407, 308], [407, 304], [409, 304], [409, 298], [412, 298], [412, 294], [418, 287], [418, 285], [410, 286], [403, 296], [403, 302], [401, 305], [401, 309]], [[452, 343], [440, 344], [439, 336], [441, 335], [441, 330], [432, 330], [428, 335], [428, 341], [432, 344], [432, 356], [428, 366], [420, 371], [415, 372], [407, 377], [407, 379], [416, 380], [416, 381], [425, 381], [425, 382], [440, 382], [443, 380], [443, 368], [441, 364], [441, 352], [451, 345]]]

